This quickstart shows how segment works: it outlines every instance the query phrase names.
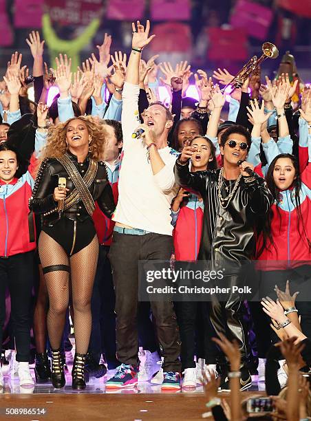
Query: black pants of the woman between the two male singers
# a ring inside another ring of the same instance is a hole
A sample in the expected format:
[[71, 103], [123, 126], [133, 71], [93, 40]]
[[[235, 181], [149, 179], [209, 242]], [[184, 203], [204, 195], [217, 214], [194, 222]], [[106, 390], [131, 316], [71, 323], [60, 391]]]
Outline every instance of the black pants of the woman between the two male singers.
[[197, 358], [205, 358], [206, 364], [215, 363], [217, 349], [211, 338], [216, 334], [209, 319], [203, 317], [206, 303], [179, 301], [175, 309], [182, 341], [182, 370], [195, 368], [195, 354]]

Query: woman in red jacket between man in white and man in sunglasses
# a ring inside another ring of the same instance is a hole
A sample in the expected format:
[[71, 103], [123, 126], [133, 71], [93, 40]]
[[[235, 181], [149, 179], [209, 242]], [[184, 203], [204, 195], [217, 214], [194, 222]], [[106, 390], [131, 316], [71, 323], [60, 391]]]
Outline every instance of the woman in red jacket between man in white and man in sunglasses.
[[[193, 121], [196, 122], [196, 120]], [[195, 136], [192, 140], [186, 140], [184, 144], [191, 146], [193, 152], [195, 152], [191, 158], [191, 172], [216, 168], [215, 147], [211, 140], [206, 137]], [[203, 211], [204, 204], [202, 197], [193, 195], [184, 190], [184, 188], [180, 188], [172, 204], [172, 224], [175, 225], [173, 240], [176, 261], [196, 261], [200, 248]], [[200, 383], [200, 377], [197, 378], [196, 374], [199, 371], [201, 375], [202, 360], [208, 362], [208, 350], [206, 355], [204, 355], [205, 349], [199, 351], [198, 346], [196, 352], [197, 366], [194, 361], [195, 333], [196, 336], [203, 337], [201, 342], [204, 343], [204, 329], [208, 328], [204, 326], [204, 323], [197, 324], [197, 315], [199, 314], [198, 319], [201, 320], [201, 312], [204, 309], [202, 308], [202, 303], [195, 301], [177, 302], [175, 303], [175, 308], [180, 327], [180, 339], [182, 341], [180, 354], [182, 370], [184, 371], [182, 387], [193, 388], [196, 387], [197, 382]], [[203, 346], [203, 348], [206, 348], [206, 346]], [[200, 369], [197, 370], [196, 367], [200, 367]], [[211, 369], [212, 367], [209, 366], [208, 368]], [[216, 369], [216, 366], [213, 368]]]

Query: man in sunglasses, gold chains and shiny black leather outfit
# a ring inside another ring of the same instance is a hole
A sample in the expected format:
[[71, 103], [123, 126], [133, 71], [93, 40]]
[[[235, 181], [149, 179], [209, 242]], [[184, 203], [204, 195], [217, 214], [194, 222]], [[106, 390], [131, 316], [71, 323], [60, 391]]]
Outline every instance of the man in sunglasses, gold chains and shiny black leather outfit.
[[[224, 277], [228, 285], [241, 282], [243, 263], [253, 259], [255, 254], [256, 219], [264, 217], [272, 203], [264, 179], [253, 173], [253, 165], [245, 161], [249, 147], [250, 134], [244, 127], [235, 125], [221, 138], [222, 169], [191, 173], [188, 161], [193, 153], [197, 153], [191, 147], [184, 148], [175, 164], [176, 182], [187, 190], [200, 193], [204, 200], [204, 226], [198, 260], [211, 261], [215, 270], [226, 268], [228, 273], [229, 269], [230, 275]], [[246, 275], [242, 276], [246, 280]], [[246, 389], [251, 385], [251, 377], [245, 367], [249, 346], [242, 309], [242, 299], [237, 294], [230, 294], [226, 302], [213, 299], [208, 303], [215, 331], [223, 332], [239, 343], [244, 363], [241, 388]], [[225, 390], [228, 387], [227, 369], [226, 366], [222, 368], [221, 387]]]

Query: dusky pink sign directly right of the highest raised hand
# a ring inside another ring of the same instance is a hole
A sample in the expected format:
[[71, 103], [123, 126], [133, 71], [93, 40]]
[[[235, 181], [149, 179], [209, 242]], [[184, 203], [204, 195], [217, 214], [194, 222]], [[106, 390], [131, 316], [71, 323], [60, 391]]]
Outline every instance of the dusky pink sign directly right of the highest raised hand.
[[151, 33], [156, 34], [151, 43], [154, 52], [187, 52], [191, 49], [191, 30], [186, 23], [159, 23]]

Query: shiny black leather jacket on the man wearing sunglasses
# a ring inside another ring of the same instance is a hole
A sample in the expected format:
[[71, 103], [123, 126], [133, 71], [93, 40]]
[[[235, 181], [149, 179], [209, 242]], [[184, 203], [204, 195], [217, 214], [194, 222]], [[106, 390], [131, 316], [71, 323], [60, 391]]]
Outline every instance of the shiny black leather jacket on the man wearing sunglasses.
[[[211, 260], [215, 267], [239, 266], [253, 259], [255, 254], [255, 225], [257, 219], [268, 214], [272, 195], [266, 182], [258, 175], [247, 183], [242, 177], [228, 208], [219, 206], [217, 182], [219, 169], [191, 173], [189, 166], [175, 164], [175, 180], [180, 186], [200, 193], [204, 200], [204, 224], [198, 260]], [[228, 182], [229, 192], [235, 181]], [[228, 195], [228, 193], [226, 193]]]

